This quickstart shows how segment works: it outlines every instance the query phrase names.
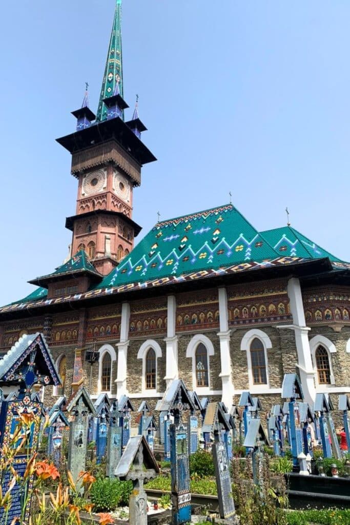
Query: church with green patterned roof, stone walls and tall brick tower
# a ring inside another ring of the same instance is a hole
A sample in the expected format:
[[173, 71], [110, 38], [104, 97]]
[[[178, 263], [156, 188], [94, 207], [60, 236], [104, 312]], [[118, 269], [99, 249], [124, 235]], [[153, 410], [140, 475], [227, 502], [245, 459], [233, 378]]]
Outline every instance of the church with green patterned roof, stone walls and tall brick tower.
[[261, 232], [232, 204], [161, 220], [136, 244], [133, 191], [156, 159], [124, 100], [121, 0], [97, 114], [87, 92], [72, 114], [57, 139], [77, 179], [70, 258], [0, 308], [2, 353], [45, 335], [63, 382], [45, 403], [84, 384], [154, 407], [181, 378], [199, 397], [230, 407], [249, 389], [268, 408], [291, 372], [309, 402], [350, 393], [349, 263], [290, 225]]

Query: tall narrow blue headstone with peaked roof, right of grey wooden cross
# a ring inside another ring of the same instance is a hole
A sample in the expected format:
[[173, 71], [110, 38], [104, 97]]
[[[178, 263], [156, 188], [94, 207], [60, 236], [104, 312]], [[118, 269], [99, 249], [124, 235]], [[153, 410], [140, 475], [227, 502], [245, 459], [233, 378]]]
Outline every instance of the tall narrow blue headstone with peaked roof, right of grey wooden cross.
[[192, 397], [181, 379], [169, 384], [158, 408], [174, 416], [174, 423], [170, 425], [172, 518], [173, 525], [180, 525], [191, 519], [188, 435], [187, 426], [182, 422], [182, 412], [195, 411]]

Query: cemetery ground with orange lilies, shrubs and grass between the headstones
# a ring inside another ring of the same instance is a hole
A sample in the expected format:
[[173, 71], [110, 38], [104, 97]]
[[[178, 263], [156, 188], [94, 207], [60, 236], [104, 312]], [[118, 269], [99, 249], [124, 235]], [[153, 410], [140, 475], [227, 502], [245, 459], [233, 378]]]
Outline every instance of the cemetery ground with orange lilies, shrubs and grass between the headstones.
[[[23, 478], [16, 476], [13, 467], [16, 451], [23, 447], [21, 436], [39, 426], [39, 418], [33, 414], [25, 414], [20, 417], [20, 424], [13, 436], [15, 447], [3, 447], [0, 468], [2, 474], [9, 471], [12, 475], [11, 485], [16, 482], [26, 485], [28, 489], [22, 504], [22, 515], [13, 521], [24, 525], [92, 525], [100, 523], [128, 523], [128, 501], [132, 491], [131, 481], [120, 481], [105, 477], [106, 464], [104, 459], [97, 463], [94, 454], [94, 443], [89, 445], [89, 459], [86, 471], [81, 472], [78, 482], [75, 483], [67, 470], [67, 447], [68, 438], [63, 439], [62, 455], [59, 465], [54, 465], [47, 458], [47, 438], [43, 438], [37, 454], [28, 457], [26, 472]], [[231, 460], [232, 493], [236, 504], [237, 514], [241, 525], [345, 525], [350, 523], [350, 509], [307, 509], [289, 510], [287, 485], [284, 474], [292, 469], [292, 461], [289, 457], [273, 458], [271, 450], [264, 450], [264, 463], [262, 486], [257, 489], [253, 484], [253, 472], [251, 459], [242, 457], [242, 447], [236, 447], [235, 456]], [[192, 493], [214, 496], [217, 493], [215, 482], [215, 471], [213, 455], [205, 450], [198, 450], [190, 456], [190, 489]], [[327, 463], [327, 462], [326, 462]], [[340, 474], [343, 473], [344, 460], [338, 460]], [[169, 490], [171, 480], [169, 475], [169, 462], [162, 461], [160, 474], [147, 482], [145, 488], [158, 489], [162, 496], [157, 498], [160, 509], [167, 509], [171, 504]], [[329, 468], [326, 466], [326, 474]], [[0, 505], [5, 511], [11, 505], [10, 489], [0, 495]], [[30, 517], [26, 517], [26, 506], [34, 496], [31, 504]], [[149, 502], [149, 506], [152, 503]], [[207, 512], [206, 507], [197, 509], [203, 515], [204, 521], [196, 521], [198, 524], [208, 523], [207, 516], [213, 517], [215, 513]], [[198, 518], [199, 520], [201, 518]], [[1, 522], [1, 521], [0, 521]], [[6, 522], [6, 521], [5, 521]], [[213, 521], [215, 522], [215, 521]], [[164, 521], [162, 522], [164, 523]], [[171, 523], [171, 518], [168, 522]], [[134, 525], [130, 522], [130, 525]]]

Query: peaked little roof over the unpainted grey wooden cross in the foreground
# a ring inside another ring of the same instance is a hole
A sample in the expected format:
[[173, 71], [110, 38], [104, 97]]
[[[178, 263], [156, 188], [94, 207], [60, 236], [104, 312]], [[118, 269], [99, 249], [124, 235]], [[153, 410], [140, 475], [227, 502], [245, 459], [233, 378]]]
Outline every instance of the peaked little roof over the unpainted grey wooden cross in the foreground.
[[129, 439], [125, 447], [124, 454], [120, 458], [118, 466], [115, 469], [114, 475], [118, 478], [125, 478], [128, 472], [133, 468], [136, 454], [142, 447], [143, 466], [147, 470], [154, 470], [156, 474], [160, 472], [157, 461], [153, 455], [144, 436], [133, 436]]

